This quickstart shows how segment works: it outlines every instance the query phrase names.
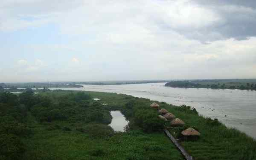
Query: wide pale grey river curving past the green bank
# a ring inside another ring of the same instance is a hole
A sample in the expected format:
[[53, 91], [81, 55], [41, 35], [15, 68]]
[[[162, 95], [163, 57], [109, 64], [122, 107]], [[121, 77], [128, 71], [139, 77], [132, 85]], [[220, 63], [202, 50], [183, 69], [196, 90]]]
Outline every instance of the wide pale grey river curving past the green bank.
[[123, 93], [173, 105], [189, 105], [203, 116], [218, 118], [228, 127], [235, 127], [256, 139], [256, 91], [173, 88], [165, 83], [83, 85], [83, 88], [51, 88]]

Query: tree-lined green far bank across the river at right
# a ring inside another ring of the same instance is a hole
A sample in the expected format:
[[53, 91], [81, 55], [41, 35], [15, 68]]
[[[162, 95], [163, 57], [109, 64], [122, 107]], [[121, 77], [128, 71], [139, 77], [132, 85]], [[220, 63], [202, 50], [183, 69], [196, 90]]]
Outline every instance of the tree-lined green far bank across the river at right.
[[239, 89], [239, 90], [256, 90], [256, 80], [193, 80], [193, 81], [170, 81], [165, 84], [167, 87], [181, 88], [212, 88], [212, 89]]

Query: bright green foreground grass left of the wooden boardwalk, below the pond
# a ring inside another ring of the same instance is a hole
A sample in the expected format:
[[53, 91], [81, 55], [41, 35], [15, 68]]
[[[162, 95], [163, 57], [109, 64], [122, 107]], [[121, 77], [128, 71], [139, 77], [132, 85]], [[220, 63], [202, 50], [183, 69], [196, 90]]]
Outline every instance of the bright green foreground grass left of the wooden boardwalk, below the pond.
[[[27, 148], [24, 159], [183, 160], [180, 152], [163, 133], [144, 134], [130, 131], [116, 133], [109, 138], [94, 139], [88, 134], [76, 131], [72, 125], [68, 125], [72, 131], [48, 131], [48, 125], [34, 125], [33, 137], [23, 140]], [[58, 125], [67, 126], [63, 123]]]

